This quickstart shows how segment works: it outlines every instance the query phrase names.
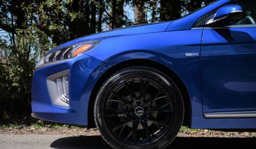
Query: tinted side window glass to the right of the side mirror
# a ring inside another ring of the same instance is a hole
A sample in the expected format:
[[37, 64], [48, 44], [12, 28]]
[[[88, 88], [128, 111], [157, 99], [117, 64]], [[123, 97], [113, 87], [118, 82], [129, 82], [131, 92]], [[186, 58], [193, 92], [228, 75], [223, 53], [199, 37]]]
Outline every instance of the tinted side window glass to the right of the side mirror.
[[233, 25], [249, 25], [256, 24], [256, 0], [240, 0], [236, 2], [243, 8], [243, 19]]

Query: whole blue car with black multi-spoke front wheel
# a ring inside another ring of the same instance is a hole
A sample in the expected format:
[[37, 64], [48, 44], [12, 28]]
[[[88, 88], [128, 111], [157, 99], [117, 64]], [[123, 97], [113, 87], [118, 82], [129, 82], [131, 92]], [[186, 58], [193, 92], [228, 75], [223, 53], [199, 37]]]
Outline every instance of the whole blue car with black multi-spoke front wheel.
[[32, 116], [97, 127], [116, 149], [162, 149], [181, 126], [256, 130], [256, 2], [64, 43], [37, 63]]

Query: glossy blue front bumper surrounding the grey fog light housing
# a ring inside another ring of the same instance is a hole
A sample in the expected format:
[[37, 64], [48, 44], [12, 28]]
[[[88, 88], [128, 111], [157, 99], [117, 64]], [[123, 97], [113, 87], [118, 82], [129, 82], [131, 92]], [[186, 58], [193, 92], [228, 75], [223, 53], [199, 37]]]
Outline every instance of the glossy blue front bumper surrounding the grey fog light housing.
[[[94, 70], [102, 61], [81, 54], [69, 61], [52, 64], [35, 70], [32, 79], [32, 115], [57, 123], [88, 125], [88, 104], [96, 83]], [[69, 106], [59, 106], [51, 99], [47, 78], [68, 70]], [[54, 104], [55, 103], [55, 104]]]

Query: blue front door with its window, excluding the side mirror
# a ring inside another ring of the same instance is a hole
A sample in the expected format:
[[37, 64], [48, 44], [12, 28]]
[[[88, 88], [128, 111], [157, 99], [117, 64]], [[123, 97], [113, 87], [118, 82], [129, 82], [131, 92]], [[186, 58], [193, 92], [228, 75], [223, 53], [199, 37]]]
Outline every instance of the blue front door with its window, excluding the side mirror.
[[[256, 3], [240, 0], [235, 4], [243, 8], [241, 21], [203, 30], [200, 63], [205, 117], [256, 113]], [[213, 15], [209, 13], [206, 22]]]

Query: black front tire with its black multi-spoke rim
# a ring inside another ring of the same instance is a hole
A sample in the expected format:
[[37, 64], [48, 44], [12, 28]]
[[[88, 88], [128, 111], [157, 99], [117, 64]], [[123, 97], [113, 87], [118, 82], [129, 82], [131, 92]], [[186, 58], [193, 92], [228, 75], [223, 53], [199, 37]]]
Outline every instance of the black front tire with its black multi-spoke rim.
[[151, 67], [122, 69], [103, 83], [94, 118], [101, 136], [116, 149], [162, 149], [177, 136], [184, 104], [177, 85]]

